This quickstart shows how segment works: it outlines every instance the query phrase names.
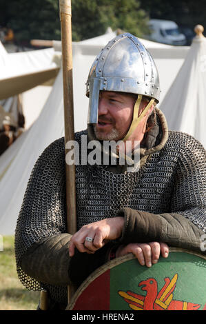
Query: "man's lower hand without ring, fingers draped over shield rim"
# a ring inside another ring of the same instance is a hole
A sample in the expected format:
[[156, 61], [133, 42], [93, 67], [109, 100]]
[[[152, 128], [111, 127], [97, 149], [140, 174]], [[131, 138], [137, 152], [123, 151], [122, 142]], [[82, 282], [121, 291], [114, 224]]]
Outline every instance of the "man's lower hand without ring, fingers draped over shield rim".
[[169, 247], [166, 243], [150, 242], [150, 243], [130, 243], [127, 245], [120, 245], [116, 250], [116, 257], [123, 256], [128, 253], [133, 253], [141, 265], [151, 267], [152, 264], [157, 263], [162, 254], [163, 258], [167, 258], [169, 254]]

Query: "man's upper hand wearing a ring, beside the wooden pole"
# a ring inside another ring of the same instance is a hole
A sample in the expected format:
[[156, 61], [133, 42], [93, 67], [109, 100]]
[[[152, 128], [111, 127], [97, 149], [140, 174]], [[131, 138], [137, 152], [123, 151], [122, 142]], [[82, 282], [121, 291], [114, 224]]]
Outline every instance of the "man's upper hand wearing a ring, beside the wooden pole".
[[[74, 255], [75, 247], [79, 252], [94, 253], [103, 247], [107, 241], [118, 239], [121, 236], [123, 225], [123, 217], [103, 219], [84, 225], [72, 236], [69, 247], [70, 256]], [[92, 242], [85, 241], [86, 237], [92, 238]]]

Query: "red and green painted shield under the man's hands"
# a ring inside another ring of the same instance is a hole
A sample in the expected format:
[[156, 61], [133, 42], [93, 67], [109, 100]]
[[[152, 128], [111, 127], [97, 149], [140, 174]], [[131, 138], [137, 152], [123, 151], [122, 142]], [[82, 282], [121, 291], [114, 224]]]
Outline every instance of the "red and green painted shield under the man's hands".
[[148, 268], [132, 254], [99, 267], [67, 310], [206, 310], [206, 257], [170, 248]]

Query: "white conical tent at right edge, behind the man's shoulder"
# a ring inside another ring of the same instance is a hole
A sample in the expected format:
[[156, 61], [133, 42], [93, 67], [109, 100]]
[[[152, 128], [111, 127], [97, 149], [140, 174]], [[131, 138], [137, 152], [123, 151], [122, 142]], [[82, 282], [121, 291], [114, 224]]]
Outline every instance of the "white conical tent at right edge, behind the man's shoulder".
[[206, 39], [195, 37], [185, 62], [161, 103], [169, 129], [194, 136], [206, 148]]

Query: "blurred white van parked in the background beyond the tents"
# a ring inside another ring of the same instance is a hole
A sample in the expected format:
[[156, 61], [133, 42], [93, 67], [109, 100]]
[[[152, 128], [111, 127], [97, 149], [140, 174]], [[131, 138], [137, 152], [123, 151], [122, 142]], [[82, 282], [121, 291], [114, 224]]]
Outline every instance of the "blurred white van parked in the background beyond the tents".
[[151, 34], [147, 38], [151, 41], [170, 45], [185, 45], [187, 42], [185, 35], [181, 34], [174, 21], [151, 19], [149, 27]]

